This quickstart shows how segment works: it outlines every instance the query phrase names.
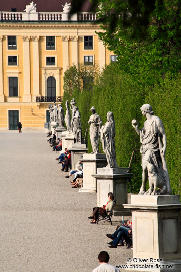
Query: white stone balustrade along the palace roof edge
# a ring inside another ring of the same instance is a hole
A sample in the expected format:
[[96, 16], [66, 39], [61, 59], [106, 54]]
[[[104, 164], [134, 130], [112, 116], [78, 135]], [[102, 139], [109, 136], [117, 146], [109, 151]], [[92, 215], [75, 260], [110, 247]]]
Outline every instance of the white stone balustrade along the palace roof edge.
[[69, 17], [64, 12], [0, 12], [1, 21], [95, 21], [96, 14], [91, 12], [75, 13]]

